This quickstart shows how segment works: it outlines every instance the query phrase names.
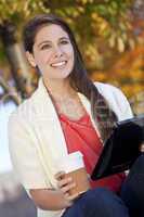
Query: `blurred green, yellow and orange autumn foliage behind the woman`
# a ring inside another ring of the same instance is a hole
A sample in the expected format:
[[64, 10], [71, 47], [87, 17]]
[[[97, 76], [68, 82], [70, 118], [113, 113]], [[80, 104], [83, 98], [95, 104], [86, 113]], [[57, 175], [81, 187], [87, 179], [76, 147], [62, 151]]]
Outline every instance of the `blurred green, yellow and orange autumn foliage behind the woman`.
[[[90, 77], [120, 87], [132, 102], [133, 97], [139, 95], [141, 108], [143, 107], [143, 0], [0, 0], [0, 29], [9, 26], [6, 35], [11, 31], [15, 38], [12, 43], [21, 44], [23, 26], [38, 13], [62, 16], [75, 33]], [[21, 64], [18, 68], [10, 69], [9, 65], [13, 64], [11, 58], [16, 49], [9, 55], [8, 47], [11, 41], [6, 43], [5, 36], [3, 40], [2, 30], [1, 79], [8, 86], [13, 86], [15, 91], [22, 91], [22, 97], [25, 98], [36, 88], [38, 74], [31, 68], [24, 73]]]

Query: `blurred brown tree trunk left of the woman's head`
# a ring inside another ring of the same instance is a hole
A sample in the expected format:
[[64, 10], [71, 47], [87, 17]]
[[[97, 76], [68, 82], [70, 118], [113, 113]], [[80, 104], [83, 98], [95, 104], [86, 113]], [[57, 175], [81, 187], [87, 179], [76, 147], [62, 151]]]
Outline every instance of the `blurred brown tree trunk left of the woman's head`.
[[22, 44], [16, 41], [15, 26], [12, 23], [4, 22], [3, 25], [0, 26], [0, 35], [18, 94], [21, 94], [22, 98], [26, 98], [32, 91], [30, 68], [26, 61]]

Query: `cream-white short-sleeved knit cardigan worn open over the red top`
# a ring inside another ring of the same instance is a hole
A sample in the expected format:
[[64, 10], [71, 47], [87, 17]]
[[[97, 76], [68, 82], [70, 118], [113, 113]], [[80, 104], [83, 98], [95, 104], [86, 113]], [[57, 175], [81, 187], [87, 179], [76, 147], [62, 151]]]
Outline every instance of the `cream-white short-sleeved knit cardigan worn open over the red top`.
[[[132, 117], [130, 105], [118, 88], [102, 82], [95, 82], [95, 86], [119, 120]], [[78, 95], [97, 131], [90, 102], [83, 94]], [[67, 155], [67, 148], [57, 113], [42, 79], [35, 93], [11, 115], [9, 144], [14, 170], [27, 191], [56, 188], [56, 159]], [[38, 209], [38, 217], [60, 217], [63, 212]]]

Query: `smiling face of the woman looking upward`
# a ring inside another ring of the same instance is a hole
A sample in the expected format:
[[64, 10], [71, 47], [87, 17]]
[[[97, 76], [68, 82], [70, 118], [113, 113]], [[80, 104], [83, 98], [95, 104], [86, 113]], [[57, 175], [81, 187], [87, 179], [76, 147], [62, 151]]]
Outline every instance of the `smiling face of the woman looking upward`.
[[74, 67], [74, 49], [66, 31], [51, 24], [36, 35], [34, 53], [28, 53], [32, 66], [38, 66], [48, 79], [64, 79]]

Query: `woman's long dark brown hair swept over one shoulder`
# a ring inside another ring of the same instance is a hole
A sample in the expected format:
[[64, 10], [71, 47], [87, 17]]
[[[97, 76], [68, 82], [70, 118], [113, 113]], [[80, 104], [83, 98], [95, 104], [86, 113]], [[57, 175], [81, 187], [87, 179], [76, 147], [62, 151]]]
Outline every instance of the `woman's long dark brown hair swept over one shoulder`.
[[26, 51], [32, 53], [35, 37], [39, 29], [43, 26], [56, 24], [60, 25], [69, 36], [74, 48], [74, 68], [69, 75], [70, 86], [87, 97], [91, 103], [91, 111], [93, 119], [99, 127], [103, 141], [108, 138], [112, 128], [117, 120], [116, 114], [109, 108], [108, 103], [104, 97], [99, 92], [95, 85], [89, 79], [87, 69], [84, 67], [81, 53], [78, 49], [76, 39], [69, 26], [61, 17], [54, 14], [41, 14], [30, 20], [23, 31], [24, 48]]

